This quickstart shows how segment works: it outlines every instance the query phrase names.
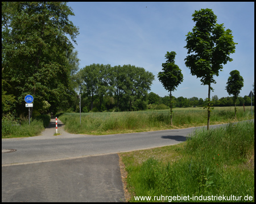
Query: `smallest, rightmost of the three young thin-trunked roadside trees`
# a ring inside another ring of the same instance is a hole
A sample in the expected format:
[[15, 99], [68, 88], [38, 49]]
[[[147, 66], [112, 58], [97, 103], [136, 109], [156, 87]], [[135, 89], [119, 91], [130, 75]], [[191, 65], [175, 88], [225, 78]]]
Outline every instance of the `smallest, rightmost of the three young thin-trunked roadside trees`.
[[240, 91], [243, 87], [243, 78], [240, 76], [240, 72], [238, 70], [233, 70], [230, 73], [228, 78], [228, 82], [226, 83], [226, 91], [228, 91], [229, 95], [234, 96], [234, 105], [235, 105], [235, 118], [237, 119], [237, 97], [240, 94]]

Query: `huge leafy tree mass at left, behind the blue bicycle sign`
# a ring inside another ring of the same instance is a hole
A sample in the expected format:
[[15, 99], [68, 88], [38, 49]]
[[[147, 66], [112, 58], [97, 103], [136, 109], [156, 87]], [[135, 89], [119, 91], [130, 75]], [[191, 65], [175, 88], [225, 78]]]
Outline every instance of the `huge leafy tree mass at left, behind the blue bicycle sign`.
[[[44, 101], [52, 111], [71, 96], [68, 56], [79, 29], [66, 2], [2, 2], [2, 79], [16, 109], [26, 111], [24, 96], [34, 96], [34, 109]], [[73, 93], [73, 92], [72, 92]]]

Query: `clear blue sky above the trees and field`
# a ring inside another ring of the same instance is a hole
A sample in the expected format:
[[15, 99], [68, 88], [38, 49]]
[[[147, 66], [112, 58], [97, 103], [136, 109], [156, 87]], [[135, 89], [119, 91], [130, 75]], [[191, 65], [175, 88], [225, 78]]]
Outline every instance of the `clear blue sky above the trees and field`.
[[92, 63], [104, 65], [135, 65], [155, 75], [151, 91], [159, 96], [169, 93], [157, 75], [166, 62], [165, 54], [176, 52], [175, 63], [184, 80], [175, 97], [208, 97], [208, 86], [192, 76], [184, 59], [187, 57], [186, 36], [195, 26], [192, 14], [201, 8], [211, 8], [217, 23], [231, 29], [236, 53], [232, 62], [224, 65], [210, 97], [229, 96], [225, 90], [230, 71], [238, 70], [244, 86], [240, 96], [249, 95], [254, 83], [254, 2], [68, 2], [75, 16], [69, 20], [79, 27], [75, 50], [80, 68]]

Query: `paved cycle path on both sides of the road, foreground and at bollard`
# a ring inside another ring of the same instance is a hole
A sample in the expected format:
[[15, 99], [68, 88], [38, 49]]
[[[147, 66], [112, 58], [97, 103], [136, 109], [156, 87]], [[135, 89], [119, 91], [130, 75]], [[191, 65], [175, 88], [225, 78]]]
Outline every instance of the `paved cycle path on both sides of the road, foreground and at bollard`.
[[[57, 130], [61, 135], [53, 136], [56, 121], [51, 118], [42, 135], [32, 139], [77, 137], [65, 132], [60, 120]], [[19, 153], [6, 152], [2, 150], [2, 158]], [[119, 156], [2, 165], [2, 202], [125, 202]]]

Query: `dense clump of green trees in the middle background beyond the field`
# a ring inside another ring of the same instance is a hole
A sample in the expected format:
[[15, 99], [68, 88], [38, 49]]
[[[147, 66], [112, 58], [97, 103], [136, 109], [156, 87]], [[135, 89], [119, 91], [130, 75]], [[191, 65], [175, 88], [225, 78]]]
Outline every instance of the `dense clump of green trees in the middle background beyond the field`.
[[90, 110], [121, 109], [137, 111], [147, 108], [147, 91], [154, 75], [142, 67], [92, 64], [77, 73], [82, 98], [89, 97]]

